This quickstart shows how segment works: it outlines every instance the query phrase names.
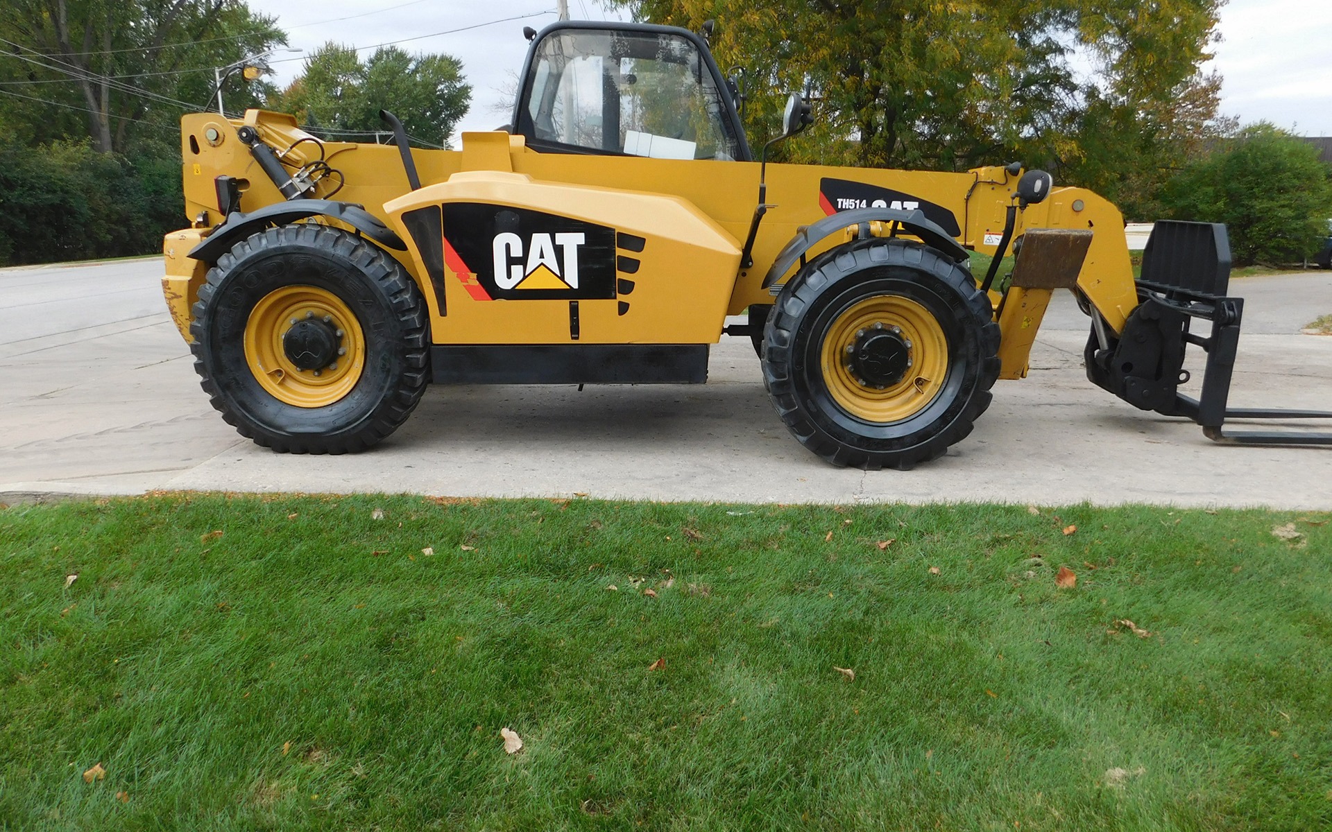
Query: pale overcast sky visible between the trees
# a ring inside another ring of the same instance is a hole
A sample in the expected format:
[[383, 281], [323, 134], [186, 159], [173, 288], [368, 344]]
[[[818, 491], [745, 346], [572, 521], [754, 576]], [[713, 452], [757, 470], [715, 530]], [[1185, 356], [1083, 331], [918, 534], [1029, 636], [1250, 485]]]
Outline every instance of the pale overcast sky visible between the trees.
[[[569, 7], [575, 19], [619, 17], [597, 0], [569, 0]], [[458, 57], [473, 87], [472, 110], [460, 130], [489, 130], [509, 121], [500, 103], [526, 55], [522, 28], [541, 29], [555, 20], [554, 0], [322, 0], [270, 8], [280, 9], [277, 23], [292, 45], [306, 52], [329, 40], [372, 47], [412, 37], [418, 40], [400, 45]], [[519, 15], [533, 16], [477, 27]], [[464, 27], [477, 28], [421, 37]], [[1332, 136], [1332, 0], [1229, 0], [1220, 29], [1224, 40], [1209, 68], [1225, 77], [1223, 113], [1244, 122], [1268, 120], [1301, 136]], [[301, 60], [274, 63], [274, 80], [286, 84], [300, 68]]]

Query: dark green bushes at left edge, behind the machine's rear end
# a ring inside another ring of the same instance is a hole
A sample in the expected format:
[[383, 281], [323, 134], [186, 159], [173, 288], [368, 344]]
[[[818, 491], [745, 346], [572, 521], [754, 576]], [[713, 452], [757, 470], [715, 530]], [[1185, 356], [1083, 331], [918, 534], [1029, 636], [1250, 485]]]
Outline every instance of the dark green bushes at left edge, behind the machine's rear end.
[[178, 158], [0, 145], [0, 265], [152, 254], [184, 212]]

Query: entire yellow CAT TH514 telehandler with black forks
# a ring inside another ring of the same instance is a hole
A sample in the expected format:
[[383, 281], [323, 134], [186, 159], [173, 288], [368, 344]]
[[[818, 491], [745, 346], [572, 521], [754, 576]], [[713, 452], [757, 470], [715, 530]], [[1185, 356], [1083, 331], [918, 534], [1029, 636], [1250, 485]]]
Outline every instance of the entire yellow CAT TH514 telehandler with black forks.
[[[1227, 410], [1243, 302], [1224, 226], [1158, 222], [1135, 281], [1119, 210], [1039, 170], [766, 164], [811, 121], [799, 95], [755, 161], [707, 32], [526, 29], [511, 124], [461, 150], [410, 148], [388, 112], [392, 145], [264, 110], [185, 116], [192, 226], [165, 238], [163, 286], [213, 406], [277, 451], [358, 451], [429, 382], [702, 383], [729, 334], [753, 339], [802, 445], [904, 469], [1026, 375], [1051, 293], [1071, 289], [1096, 385], [1217, 441], [1332, 442], [1223, 433], [1332, 415]], [[994, 256], [986, 274], [970, 250]], [[1189, 343], [1207, 354], [1197, 399], [1177, 391]]]

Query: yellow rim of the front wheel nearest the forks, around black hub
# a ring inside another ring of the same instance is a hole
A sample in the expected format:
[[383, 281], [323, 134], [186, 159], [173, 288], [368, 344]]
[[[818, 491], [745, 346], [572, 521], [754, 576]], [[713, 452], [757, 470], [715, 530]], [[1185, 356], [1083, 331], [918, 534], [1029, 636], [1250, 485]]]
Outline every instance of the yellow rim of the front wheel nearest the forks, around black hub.
[[[882, 390], [860, 383], [850, 363], [860, 333], [896, 327], [908, 346], [910, 366]], [[850, 306], [823, 338], [821, 369], [829, 394], [848, 414], [867, 422], [899, 422], [924, 410], [943, 389], [948, 373], [948, 339], [928, 309], [910, 298], [880, 294]]]

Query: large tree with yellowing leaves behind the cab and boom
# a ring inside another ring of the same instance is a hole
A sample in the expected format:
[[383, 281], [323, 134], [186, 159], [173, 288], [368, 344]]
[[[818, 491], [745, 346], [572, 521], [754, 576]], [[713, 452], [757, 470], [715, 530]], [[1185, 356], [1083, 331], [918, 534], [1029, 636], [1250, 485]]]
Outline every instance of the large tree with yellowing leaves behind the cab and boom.
[[[785, 148], [797, 158], [942, 169], [1019, 158], [1100, 185], [1118, 184], [1107, 172], [1123, 142], [1155, 152], [1177, 133], [1180, 91], [1224, 3], [613, 1], [654, 23], [717, 19], [718, 60], [749, 71], [753, 140], [774, 134], [786, 91], [809, 84], [819, 124]], [[1215, 116], [1215, 95], [1192, 103], [1209, 109], [1188, 124]]]

